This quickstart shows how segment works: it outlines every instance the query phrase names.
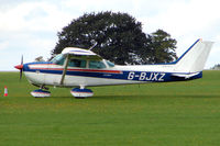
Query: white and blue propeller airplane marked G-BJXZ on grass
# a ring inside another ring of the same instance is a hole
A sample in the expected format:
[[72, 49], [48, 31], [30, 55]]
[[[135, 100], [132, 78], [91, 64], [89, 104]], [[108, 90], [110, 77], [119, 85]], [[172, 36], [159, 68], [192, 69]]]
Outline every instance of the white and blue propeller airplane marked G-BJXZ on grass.
[[199, 79], [212, 47], [212, 42], [197, 40], [177, 60], [154, 65], [114, 65], [91, 49], [66, 47], [50, 61], [28, 63], [14, 66], [40, 89], [35, 98], [51, 97], [46, 86], [73, 88], [75, 98], [92, 97], [86, 87], [170, 82]]

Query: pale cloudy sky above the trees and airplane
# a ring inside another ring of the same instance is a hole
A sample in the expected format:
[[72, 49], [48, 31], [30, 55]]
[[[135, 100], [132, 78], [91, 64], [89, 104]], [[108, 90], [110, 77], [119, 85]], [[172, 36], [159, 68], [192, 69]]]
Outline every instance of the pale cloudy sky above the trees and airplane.
[[0, 0], [0, 71], [51, 57], [61, 32], [84, 13], [125, 12], [143, 32], [158, 29], [177, 41], [180, 56], [198, 38], [215, 42], [206, 68], [220, 64], [219, 0]]

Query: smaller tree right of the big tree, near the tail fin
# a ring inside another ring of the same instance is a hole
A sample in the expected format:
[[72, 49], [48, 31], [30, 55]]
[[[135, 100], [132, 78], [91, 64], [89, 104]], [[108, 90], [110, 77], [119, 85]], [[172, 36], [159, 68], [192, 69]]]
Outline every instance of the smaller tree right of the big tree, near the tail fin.
[[152, 54], [148, 58], [150, 63], [170, 63], [177, 59], [175, 53], [177, 42], [168, 33], [157, 30], [152, 35], [148, 35], [148, 37], [151, 40], [148, 46]]

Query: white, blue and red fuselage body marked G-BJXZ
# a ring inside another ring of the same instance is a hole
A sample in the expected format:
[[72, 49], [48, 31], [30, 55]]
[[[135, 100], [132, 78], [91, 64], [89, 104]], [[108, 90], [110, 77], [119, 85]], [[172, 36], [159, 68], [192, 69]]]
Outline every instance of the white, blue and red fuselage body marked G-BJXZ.
[[[144, 65], [144, 66], [108, 66], [105, 68], [68, 67], [64, 83], [61, 85], [64, 66], [45, 63], [30, 63], [23, 65], [28, 80], [33, 85], [57, 87], [89, 87], [147, 82], [167, 82], [201, 78], [201, 71], [186, 78], [188, 72], [175, 71], [174, 65]], [[174, 76], [175, 74], [184, 77]]]

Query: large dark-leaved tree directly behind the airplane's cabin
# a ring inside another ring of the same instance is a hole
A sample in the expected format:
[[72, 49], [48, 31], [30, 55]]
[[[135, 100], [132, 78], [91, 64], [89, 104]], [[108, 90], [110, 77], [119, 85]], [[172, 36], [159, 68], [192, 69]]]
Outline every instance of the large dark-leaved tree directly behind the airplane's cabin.
[[148, 64], [155, 60], [151, 57], [156, 47], [152, 43], [154, 36], [143, 33], [141, 22], [128, 13], [85, 13], [73, 20], [57, 36], [53, 55], [65, 47], [89, 48], [96, 41], [97, 46], [92, 50], [116, 64]]

